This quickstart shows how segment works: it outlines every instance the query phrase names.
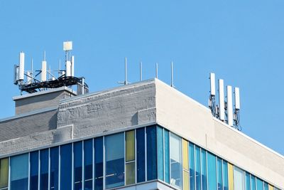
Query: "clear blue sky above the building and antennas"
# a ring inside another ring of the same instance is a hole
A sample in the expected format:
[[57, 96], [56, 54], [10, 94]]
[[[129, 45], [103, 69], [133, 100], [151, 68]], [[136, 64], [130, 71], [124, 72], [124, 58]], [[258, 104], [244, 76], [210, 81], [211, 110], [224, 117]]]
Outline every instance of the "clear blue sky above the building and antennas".
[[[26, 53], [40, 69], [43, 51], [58, 68], [73, 41], [75, 73], [91, 91], [155, 76], [207, 105], [209, 72], [241, 89], [243, 132], [284, 154], [284, 1], [0, 1], [0, 118], [14, 115], [13, 64]], [[26, 69], [30, 69], [26, 64]]]

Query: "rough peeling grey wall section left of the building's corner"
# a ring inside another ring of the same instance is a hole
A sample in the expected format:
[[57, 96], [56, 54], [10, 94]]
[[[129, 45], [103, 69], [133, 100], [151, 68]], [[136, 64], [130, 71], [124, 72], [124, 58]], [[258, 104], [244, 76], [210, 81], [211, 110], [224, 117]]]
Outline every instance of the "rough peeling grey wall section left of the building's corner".
[[155, 83], [137, 83], [60, 103], [58, 127], [74, 125], [74, 138], [155, 122]]

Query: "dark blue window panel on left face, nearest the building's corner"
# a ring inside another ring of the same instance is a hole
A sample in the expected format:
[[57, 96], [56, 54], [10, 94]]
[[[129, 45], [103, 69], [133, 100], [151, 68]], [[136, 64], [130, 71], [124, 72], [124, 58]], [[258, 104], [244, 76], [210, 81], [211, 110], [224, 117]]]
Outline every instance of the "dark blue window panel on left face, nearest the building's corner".
[[157, 179], [157, 127], [147, 127], [147, 180]]

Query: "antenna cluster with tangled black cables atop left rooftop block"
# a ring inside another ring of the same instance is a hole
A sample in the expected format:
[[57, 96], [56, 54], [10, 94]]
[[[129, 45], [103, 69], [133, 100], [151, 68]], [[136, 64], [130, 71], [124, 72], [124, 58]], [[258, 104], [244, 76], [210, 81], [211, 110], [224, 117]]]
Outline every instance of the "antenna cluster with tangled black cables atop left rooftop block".
[[[47, 70], [48, 65], [46, 61], [45, 52], [43, 53], [43, 61], [41, 62], [41, 69], [35, 70], [36, 74], [33, 75], [33, 59], [31, 60], [31, 70], [25, 72], [25, 53], [21, 52], [19, 56], [19, 64], [14, 65], [14, 81], [18, 88], [26, 93], [36, 93], [50, 88], [60, 88], [62, 86], [77, 85], [77, 93], [84, 94], [88, 92], [88, 86], [84, 83], [84, 77], [75, 77], [74, 63], [75, 58], [71, 56], [72, 41], [63, 42], [63, 51], [65, 51], [65, 70], [61, 70], [59, 63], [58, 78], [53, 75], [51, 68]], [[47, 79], [48, 74], [48, 79]], [[26, 75], [26, 80], [25, 76]], [[38, 79], [40, 75], [40, 79]]]

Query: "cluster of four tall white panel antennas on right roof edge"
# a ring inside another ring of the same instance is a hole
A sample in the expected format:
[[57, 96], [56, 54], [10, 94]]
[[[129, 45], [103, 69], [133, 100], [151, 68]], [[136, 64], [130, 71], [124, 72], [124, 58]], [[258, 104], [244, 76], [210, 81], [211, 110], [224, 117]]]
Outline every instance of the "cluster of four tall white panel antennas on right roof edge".
[[210, 73], [210, 95], [209, 95], [209, 108], [214, 117], [226, 122], [229, 126], [235, 127], [237, 130], [241, 130], [239, 123], [239, 111], [240, 111], [240, 95], [239, 88], [234, 88], [234, 102], [232, 97], [232, 87], [226, 86], [226, 101], [224, 100], [224, 80], [219, 79], [219, 105], [216, 103], [216, 89], [215, 89], [215, 74]]

